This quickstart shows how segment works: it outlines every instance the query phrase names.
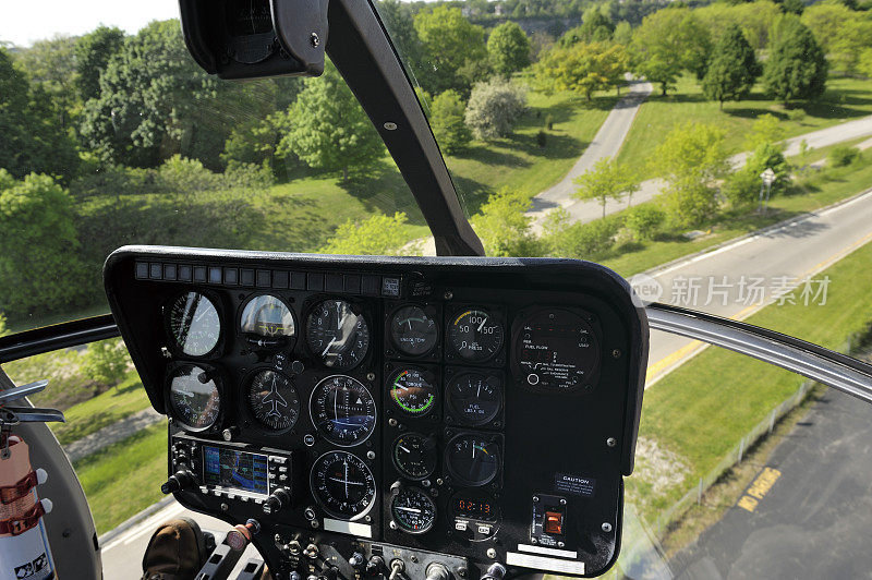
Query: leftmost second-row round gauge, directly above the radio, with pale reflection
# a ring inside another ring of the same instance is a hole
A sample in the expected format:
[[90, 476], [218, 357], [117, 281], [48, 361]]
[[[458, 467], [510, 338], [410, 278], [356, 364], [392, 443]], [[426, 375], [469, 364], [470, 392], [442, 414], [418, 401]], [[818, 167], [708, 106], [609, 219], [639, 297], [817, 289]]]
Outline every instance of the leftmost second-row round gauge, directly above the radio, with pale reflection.
[[205, 431], [218, 421], [221, 394], [217, 378], [199, 366], [186, 364], [172, 372], [169, 399], [173, 418], [187, 431]]

